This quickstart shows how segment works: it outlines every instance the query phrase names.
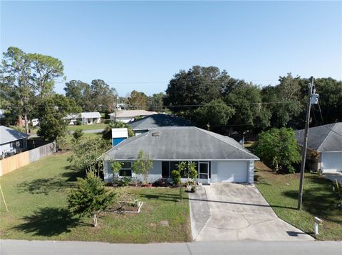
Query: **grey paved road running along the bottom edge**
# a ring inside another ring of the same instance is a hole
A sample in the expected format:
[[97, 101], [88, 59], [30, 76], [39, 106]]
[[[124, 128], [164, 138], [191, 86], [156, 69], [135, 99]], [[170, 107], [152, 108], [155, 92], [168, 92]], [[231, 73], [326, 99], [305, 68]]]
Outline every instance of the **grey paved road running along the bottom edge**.
[[1, 255], [341, 255], [342, 242], [194, 242], [176, 244], [107, 244], [100, 242], [53, 242], [1, 240]]

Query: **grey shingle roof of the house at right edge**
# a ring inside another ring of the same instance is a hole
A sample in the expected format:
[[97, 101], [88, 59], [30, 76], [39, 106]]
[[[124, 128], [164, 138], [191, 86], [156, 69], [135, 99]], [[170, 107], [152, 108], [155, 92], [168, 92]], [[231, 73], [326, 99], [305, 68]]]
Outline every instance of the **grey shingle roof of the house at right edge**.
[[[304, 129], [296, 130], [295, 134], [297, 143], [303, 146]], [[308, 148], [318, 152], [342, 151], [342, 122], [310, 128]]]

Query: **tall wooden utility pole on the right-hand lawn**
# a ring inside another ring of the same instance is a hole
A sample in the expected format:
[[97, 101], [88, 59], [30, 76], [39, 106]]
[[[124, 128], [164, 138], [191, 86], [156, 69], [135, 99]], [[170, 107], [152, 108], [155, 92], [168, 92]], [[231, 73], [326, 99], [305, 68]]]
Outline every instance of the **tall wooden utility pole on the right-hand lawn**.
[[305, 118], [305, 131], [304, 131], [304, 143], [301, 151], [301, 179], [299, 181], [299, 195], [298, 195], [298, 210], [301, 210], [301, 204], [303, 201], [303, 184], [304, 184], [304, 169], [306, 160], [306, 147], [308, 146], [308, 134], [309, 134], [309, 123], [310, 123], [310, 110], [311, 110], [311, 97], [312, 89], [314, 87], [314, 77], [310, 77], [309, 83], [309, 94], [308, 102], [306, 105], [306, 118]]

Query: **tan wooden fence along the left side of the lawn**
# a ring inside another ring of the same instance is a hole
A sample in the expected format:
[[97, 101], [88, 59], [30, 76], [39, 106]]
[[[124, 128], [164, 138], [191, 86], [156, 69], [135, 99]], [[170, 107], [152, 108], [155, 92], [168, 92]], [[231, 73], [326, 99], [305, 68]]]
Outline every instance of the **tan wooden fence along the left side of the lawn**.
[[34, 161], [38, 161], [38, 159], [49, 156], [56, 151], [56, 142], [53, 142], [33, 148], [30, 151], [24, 151], [9, 158], [4, 158], [0, 161], [0, 176], [26, 166]]

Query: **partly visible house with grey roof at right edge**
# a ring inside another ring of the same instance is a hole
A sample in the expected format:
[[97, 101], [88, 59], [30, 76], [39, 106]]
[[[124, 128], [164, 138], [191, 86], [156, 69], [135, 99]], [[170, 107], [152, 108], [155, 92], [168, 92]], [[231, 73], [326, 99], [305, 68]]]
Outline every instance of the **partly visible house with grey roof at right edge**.
[[[304, 129], [296, 130], [295, 134], [297, 143], [302, 147]], [[311, 170], [342, 172], [342, 122], [310, 128], [307, 147]]]

